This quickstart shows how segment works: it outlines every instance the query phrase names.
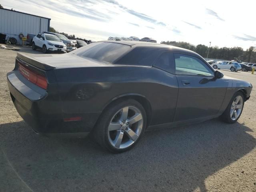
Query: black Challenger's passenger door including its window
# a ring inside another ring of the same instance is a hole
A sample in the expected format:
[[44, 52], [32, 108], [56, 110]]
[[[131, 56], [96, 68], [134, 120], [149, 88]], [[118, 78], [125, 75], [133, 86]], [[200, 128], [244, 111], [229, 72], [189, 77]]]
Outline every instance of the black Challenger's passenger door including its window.
[[218, 113], [226, 94], [223, 80], [201, 58], [174, 53], [179, 92], [174, 121], [190, 120]]

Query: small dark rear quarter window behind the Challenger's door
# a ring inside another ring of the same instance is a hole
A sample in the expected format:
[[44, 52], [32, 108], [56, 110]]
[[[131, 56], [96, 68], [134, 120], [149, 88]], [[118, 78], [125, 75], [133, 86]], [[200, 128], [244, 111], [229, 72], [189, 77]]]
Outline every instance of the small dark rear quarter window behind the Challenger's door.
[[156, 60], [155, 67], [160, 68], [166, 72], [174, 74], [174, 56], [171, 52], [162, 53], [159, 58]]

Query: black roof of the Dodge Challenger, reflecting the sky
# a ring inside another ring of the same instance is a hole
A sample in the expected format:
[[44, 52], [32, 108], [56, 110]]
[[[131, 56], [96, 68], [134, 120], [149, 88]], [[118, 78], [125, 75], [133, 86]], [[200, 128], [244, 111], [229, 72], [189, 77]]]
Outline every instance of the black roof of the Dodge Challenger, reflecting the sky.
[[194, 51], [180, 48], [180, 47], [171, 46], [171, 45], [160, 44], [160, 43], [152, 43], [152, 42], [144, 42], [144, 41], [122, 41], [122, 40], [121, 41], [105, 40], [105, 41], [99, 41], [99, 42], [112, 42], [112, 43], [128, 45], [131, 47], [136, 46], [136, 47], [152, 47], [152, 48], [157, 48], [157, 49], [162, 48], [164, 50], [170, 50], [172, 52], [199, 56], [202, 58], [202, 56], [200, 56], [199, 54], [197, 54]]

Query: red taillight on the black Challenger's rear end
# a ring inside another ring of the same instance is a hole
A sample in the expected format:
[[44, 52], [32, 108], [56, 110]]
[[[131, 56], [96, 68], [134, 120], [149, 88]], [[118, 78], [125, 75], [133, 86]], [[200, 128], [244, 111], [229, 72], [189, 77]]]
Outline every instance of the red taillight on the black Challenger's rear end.
[[37, 86], [39, 86], [45, 90], [47, 89], [48, 83], [47, 83], [45, 76], [42, 76], [41, 74], [38, 74], [37, 72], [34, 72], [34, 71], [22, 66], [20, 63], [19, 63], [18, 70], [20, 71], [20, 74], [22, 74], [22, 76], [24, 76], [30, 82], [36, 84]]

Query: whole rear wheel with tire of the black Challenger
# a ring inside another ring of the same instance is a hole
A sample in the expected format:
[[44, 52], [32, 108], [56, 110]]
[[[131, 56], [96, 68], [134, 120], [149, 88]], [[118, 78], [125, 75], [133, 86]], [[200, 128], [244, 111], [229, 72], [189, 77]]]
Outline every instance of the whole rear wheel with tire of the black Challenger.
[[140, 140], [146, 128], [146, 112], [136, 100], [113, 102], [104, 110], [93, 135], [112, 153], [130, 150]]

